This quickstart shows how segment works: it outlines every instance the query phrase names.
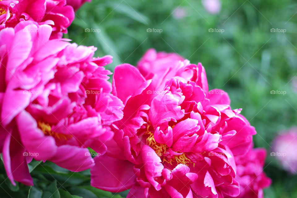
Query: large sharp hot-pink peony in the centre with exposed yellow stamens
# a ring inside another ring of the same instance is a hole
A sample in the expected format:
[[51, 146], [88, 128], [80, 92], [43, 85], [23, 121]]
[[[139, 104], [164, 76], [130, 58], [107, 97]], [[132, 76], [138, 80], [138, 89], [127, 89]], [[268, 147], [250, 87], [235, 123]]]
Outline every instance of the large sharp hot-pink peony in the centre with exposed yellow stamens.
[[125, 105], [108, 151], [95, 158], [91, 185], [127, 197], [236, 197], [235, 156], [254, 127], [227, 93], [208, 91], [204, 67], [150, 49], [137, 67], [115, 68], [112, 93]]

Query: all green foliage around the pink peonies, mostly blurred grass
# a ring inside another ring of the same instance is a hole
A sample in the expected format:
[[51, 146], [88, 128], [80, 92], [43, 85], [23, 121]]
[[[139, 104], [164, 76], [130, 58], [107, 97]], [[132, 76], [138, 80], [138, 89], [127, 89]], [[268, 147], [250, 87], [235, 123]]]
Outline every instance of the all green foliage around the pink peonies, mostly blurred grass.
[[[123, 62], [136, 65], [149, 48], [201, 62], [210, 89], [224, 89], [232, 108], [243, 108], [242, 114], [258, 132], [255, 147], [267, 149], [264, 171], [273, 183], [264, 190], [265, 198], [295, 198], [297, 175], [284, 171], [270, 152], [278, 131], [297, 121], [296, 11], [297, 2], [289, 0], [224, 0], [217, 14], [206, 11], [200, 0], [93, 0], [76, 12], [65, 37], [96, 46], [96, 56], [112, 55], [114, 62], [107, 66], [111, 71]], [[162, 32], [147, 32], [147, 28]], [[286, 94], [271, 94], [273, 90]], [[29, 166], [36, 167], [31, 172], [36, 186], [29, 197], [38, 197], [41, 189], [49, 195], [58, 190], [63, 198], [121, 197], [90, 187], [89, 171], [71, 173], [50, 162], [33, 161]], [[0, 182], [5, 177], [0, 174]], [[27, 197], [29, 191], [7, 180], [0, 186], [1, 197], [13, 191], [17, 197]]]

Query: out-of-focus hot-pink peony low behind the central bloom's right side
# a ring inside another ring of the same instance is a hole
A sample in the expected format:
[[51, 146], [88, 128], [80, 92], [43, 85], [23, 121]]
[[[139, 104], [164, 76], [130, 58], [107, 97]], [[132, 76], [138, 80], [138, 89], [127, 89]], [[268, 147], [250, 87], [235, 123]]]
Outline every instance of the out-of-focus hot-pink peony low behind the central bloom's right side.
[[238, 198], [263, 198], [263, 188], [269, 187], [271, 179], [263, 172], [266, 150], [251, 149], [245, 155], [235, 157], [236, 180], [240, 184]]

